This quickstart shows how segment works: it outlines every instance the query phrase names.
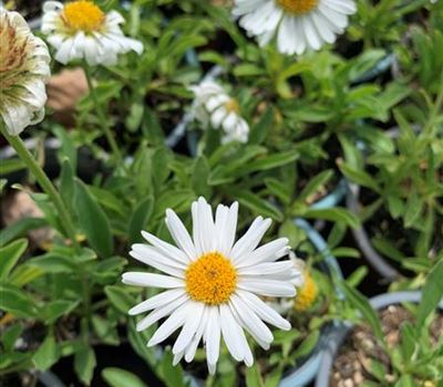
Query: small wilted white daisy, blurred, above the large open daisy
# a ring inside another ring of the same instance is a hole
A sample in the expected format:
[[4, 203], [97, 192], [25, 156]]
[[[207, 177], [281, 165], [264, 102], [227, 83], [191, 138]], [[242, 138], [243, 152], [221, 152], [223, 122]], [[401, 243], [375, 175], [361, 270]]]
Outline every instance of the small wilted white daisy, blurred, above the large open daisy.
[[222, 128], [222, 143], [247, 143], [249, 125], [239, 115], [239, 105], [224, 88], [214, 81], [204, 81], [197, 86], [190, 86], [195, 94], [194, 114], [197, 121], [206, 128]]

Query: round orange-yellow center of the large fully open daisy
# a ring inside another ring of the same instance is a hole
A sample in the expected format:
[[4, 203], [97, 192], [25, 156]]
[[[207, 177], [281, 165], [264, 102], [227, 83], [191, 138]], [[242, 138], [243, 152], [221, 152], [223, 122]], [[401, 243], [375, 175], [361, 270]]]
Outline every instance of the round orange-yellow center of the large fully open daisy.
[[194, 301], [219, 305], [236, 289], [237, 272], [230, 261], [218, 252], [209, 252], [186, 270], [186, 291]]

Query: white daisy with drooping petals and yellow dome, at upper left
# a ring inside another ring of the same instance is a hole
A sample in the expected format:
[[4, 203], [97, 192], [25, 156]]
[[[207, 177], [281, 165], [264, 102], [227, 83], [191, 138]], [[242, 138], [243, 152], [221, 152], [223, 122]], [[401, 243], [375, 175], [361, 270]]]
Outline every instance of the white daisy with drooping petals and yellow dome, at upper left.
[[111, 11], [104, 13], [92, 1], [79, 0], [62, 4], [47, 1], [43, 4], [42, 32], [56, 49], [55, 60], [66, 64], [84, 59], [90, 65], [113, 65], [117, 55], [131, 50], [141, 54], [143, 44], [126, 38], [120, 24], [123, 17]]

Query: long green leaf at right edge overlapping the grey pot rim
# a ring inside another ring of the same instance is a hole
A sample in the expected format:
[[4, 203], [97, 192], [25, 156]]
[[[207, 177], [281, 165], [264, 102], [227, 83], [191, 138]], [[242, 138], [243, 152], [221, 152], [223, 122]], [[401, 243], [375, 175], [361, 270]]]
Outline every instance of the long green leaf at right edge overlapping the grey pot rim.
[[423, 287], [422, 301], [418, 311], [416, 330], [422, 328], [424, 321], [436, 308], [443, 297], [443, 260], [440, 260], [427, 275]]

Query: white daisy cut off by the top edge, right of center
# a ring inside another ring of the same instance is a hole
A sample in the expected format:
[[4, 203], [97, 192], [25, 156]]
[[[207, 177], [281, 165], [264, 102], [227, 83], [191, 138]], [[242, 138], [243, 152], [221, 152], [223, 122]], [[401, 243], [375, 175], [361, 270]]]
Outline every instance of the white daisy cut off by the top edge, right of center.
[[276, 36], [278, 50], [289, 55], [333, 43], [354, 12], [353, 0], [235, 0], [233, 9], [260, 45]]

